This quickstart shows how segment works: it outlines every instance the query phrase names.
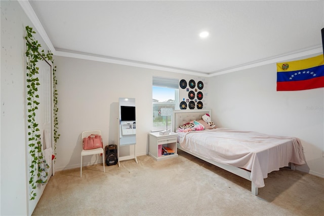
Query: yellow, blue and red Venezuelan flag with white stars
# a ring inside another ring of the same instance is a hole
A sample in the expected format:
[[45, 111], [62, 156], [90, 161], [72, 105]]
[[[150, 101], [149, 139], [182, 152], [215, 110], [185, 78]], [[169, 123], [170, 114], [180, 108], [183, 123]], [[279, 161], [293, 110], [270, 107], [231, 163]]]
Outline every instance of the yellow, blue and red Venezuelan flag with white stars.
[[277, 63], [277, 91], [297, 91], [324, 87], [323, 55]]

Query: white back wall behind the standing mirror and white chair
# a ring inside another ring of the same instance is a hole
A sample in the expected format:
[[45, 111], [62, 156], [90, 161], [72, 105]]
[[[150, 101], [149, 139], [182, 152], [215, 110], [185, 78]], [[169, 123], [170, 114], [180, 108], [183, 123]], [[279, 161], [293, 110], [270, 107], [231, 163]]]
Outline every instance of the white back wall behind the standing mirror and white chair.
[[[118, 65], [68, 57], [54, 57], [59, 93], [59, 133], [56, 170], [80, 166], [83, 130], [102, 131], [104, 146], [117, 144], [119, 97], [136, 99], [136, 155], [148, 154], [147, 133], [152, 129], [152, 76], [198, 79], [161, 70]], [[133, 154], [120, 148], [120, 156]], [[99, 162], [84, 157], [84, 164]], [[123, 163], [123, 162], [121, 162]]]

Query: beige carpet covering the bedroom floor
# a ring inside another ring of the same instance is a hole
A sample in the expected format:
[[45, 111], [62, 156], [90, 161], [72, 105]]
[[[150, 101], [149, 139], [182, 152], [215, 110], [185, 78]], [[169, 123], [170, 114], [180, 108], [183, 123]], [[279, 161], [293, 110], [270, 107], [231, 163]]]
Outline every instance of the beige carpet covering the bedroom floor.
[[323, 215], [324, 179], [282, 168], [251, 182], [187, 153], [56, 172], [33, 215]]

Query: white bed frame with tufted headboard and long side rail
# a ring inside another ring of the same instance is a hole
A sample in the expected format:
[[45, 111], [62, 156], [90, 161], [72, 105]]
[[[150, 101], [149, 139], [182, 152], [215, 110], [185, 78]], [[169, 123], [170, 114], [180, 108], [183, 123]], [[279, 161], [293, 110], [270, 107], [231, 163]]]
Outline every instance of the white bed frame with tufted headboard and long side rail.
[[[175, 110], [173, 112], [173, 131], [175, 132], [179, 125], [185, 124], [189, 122], [190, 120], [200, 120], [201, 116], [208, 113], [212, 117], [212, 111], [211, 110]], [[225, 169], [231, 173], [234, 173], [235, 175], [241, 176], [245, 179], [248, 179], [251, 181], [251, 172], [245, 169], [241, 169], [235, 166], [230, 166], [227, 164], [218, 163], [216, 161], [210, 160], [208, 158], [205, 158], [203, 156], [197, 155], [195, 153], [192, 153], [188, 150], [182, 149], [180, 144], [178, 143], [178, 149], [193, 155], [197, 158], [200, 158], [201, 160], [207, 161], [208, 163], [211, 163], [215, 166], [218, 166], [222, 169]], [[251, 192], [253, 195], [258, 195], [258, 188], [255, 186], [255, 184], [251, 181]]]

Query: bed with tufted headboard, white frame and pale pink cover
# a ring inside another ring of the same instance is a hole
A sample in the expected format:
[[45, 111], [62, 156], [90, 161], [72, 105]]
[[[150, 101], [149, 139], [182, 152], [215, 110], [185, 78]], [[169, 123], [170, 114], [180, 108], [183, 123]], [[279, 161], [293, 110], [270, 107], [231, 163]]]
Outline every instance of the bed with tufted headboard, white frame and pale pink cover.
[[178, 149], [251, 181], [251, 192], [258, 195], [268, 173], [281, 167], [305, 164], [301, 141], [253, 131], [213, 128], [181, 131], [188, 122], [201, 122], [211, 110], [176, 110], [173, 131], [178, 132]]

